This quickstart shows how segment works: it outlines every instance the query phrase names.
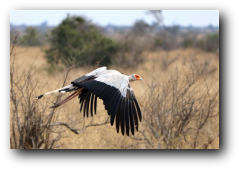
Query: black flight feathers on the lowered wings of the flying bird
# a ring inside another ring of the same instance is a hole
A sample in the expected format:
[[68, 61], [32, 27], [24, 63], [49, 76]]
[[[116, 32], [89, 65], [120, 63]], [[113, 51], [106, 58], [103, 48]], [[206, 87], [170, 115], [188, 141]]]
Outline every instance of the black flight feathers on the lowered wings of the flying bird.
[[[141, 110], [132, 90], [128, 89], [126, 97], [123, 97], [120, 91], [106, 83], [95, 80], [96, 77], [87, 76], [78, 78], [71, 83], [77, 87], [84, 87], [80, 99], [80, 111], [84, 111], [87, 117], [89, 111], [93, 116], [93, 111], [96, 114], [97, 97], [103, 100], [105, 109], [111, 116], [110, 123], [116, 121], [116, 130], [121, 130], [122, 135], [125, 133], [129, 136], [131, 131], [134, 135], [135, 129], [138, 131], [138, 120], [142, 120]], [[130, 88], [130, 85], [128, 85]]]

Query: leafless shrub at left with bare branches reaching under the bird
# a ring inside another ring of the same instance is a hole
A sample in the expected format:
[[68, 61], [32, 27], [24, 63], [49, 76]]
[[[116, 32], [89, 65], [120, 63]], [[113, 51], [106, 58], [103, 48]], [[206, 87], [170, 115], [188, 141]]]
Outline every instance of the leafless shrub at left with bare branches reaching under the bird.
[[[11, 37], [12, 36], [12, 37]], [[35, 97], [42, 93], [39, 89], [40, 81], [35, 77], [33, 65], [24, 66], [16, 59], [17, 39], [20, 33], [10, 32], [10, 148], [11, 149], [53, 149], [60, 148], [63, 133], [71, 131], [75, 134], [83, 133], [88, 127], [100, 126], [108, 123], [93, 123], [93, 120], [77, 128], [82, 119], [62, 118], [62, 110], [49, 109], [53, 100], [46, 97], [37, 101]], [[71, 60], [66, 70], [62, 86], [65, 86], [69, 72], [74, 68], [75, 60]], [[54, 102], [61, 98], [59, 94]], [[74, 112], [72, 112], [74, 113]], [[77, 122], [77, 120], [79, 120]], [[67, 148], [67, 147], [66, 147]]]

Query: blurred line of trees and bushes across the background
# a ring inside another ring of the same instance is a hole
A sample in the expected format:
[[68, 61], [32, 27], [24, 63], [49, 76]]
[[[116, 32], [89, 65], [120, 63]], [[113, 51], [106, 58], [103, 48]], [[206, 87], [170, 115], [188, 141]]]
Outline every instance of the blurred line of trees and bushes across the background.
[[199, 48], [219, 54], [219, 32], [183, 32], [179, 26], [162, 26], [161, 11], [149, 13], [156, 17], [155, 24], [138, 20], [128, 31], [118, 31], [113, 35], [105, 33], [86, 18], [67, 16], [47, 36], [37, 28], [27, 27], [19, 41], [25, 46], [47, 44], [45, 53], [51, 68], [58, 64], [67, 65], [71, 56], [79, 62], [76, 66], [100, 63], [135, 67], [144, 61], [144, 51]]

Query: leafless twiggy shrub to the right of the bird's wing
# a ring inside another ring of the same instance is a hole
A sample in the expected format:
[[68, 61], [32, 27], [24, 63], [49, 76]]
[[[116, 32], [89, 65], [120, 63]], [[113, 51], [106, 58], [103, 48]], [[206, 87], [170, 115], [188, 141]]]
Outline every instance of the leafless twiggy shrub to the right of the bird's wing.
[[[219, 137], [219, 89], [215, 67], [193, 57], [161, 79], [153, 68], [143, 106], [146, 125], [140, 131], [148, 148], [207, 148]], [[209, 78], [208, 78], [209, 77]], [[218, 121], [218, 122], [217, 122]]]

